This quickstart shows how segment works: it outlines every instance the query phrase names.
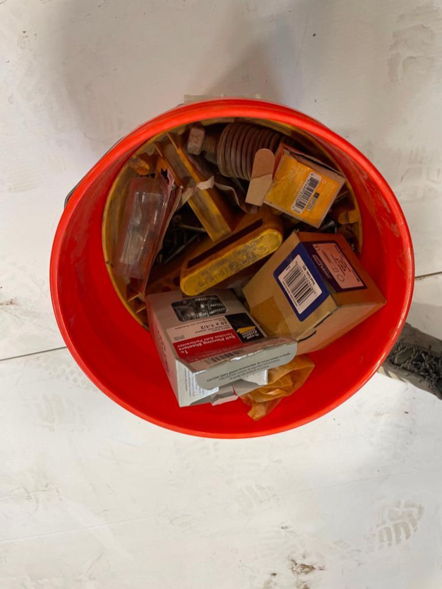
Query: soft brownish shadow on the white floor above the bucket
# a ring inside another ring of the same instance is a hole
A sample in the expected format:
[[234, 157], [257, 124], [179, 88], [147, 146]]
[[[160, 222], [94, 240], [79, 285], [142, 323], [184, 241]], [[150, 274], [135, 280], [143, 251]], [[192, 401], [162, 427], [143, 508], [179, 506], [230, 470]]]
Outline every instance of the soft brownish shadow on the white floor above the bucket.
[[54, 14], [47, 42], [61, 67], [42, 67], [85, 138], [107, 147], [186, 94], [259, 94], [331, 125], [390, 178], [391, 137], [440, 67], [431, 4], [77, 0]]

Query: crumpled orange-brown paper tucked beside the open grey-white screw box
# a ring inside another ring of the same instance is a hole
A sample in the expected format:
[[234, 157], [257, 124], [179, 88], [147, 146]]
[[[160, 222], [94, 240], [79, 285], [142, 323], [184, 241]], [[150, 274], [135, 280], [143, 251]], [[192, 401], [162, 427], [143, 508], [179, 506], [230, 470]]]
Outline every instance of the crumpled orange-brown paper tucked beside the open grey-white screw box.
[[297, 391], [315, 368], [307, 355], [295, 356], [291, 362], [271, 368], [269, 382], [240, 398], [251, 407], [248, 415], [258, 421], [268, 415], [283, 399]]

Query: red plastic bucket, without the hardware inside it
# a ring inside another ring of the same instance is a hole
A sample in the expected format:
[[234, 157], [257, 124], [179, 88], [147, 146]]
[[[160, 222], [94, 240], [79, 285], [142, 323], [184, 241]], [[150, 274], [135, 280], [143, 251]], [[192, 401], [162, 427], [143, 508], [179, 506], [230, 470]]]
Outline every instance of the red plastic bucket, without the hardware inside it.
[[[108, 191], [127, 158], [154, 135], [202, 119], [250, 117], [311, 134], [341, 166], [362, 217], [362, 264], [387, 305], [325, 350], [306, 384], [253, 422], [243, 403], [179, 408], [149, 333], [127, 312], [111, 283], [101, 244]], [[288, 107], [222, 99], [174, 108], [119, 141], [80, 181], [62, 214], [51, 256], [55, 316], [68, 349], [111, 399], [152, 423], [186, 434], [242, 438], [295, 428], [331, 411], [374, 374], [403, 327], [414, 283], [413, 246], [400, 206], [374, 166], [347, 141]]]

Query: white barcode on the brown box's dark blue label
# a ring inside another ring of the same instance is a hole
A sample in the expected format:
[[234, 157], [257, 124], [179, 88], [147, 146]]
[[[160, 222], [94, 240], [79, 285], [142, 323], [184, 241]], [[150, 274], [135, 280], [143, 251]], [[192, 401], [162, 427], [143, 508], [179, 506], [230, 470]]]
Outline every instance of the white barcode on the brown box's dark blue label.
[[322, 294], [321, 286], [299, 254], [278, 275], [278, 280], [299, 315]]

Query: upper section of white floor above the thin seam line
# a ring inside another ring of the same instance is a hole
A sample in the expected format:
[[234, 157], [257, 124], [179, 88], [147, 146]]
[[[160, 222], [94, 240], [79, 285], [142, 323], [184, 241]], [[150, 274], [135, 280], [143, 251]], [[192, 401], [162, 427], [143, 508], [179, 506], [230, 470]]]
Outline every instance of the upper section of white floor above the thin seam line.
[[65, 195], [118, 138], [184, 94], [261, 94], [378, 166], [417, 274], [442, 270], [442, 3], [0, 2], [0, 358], [62, 345], [48, 258]]

